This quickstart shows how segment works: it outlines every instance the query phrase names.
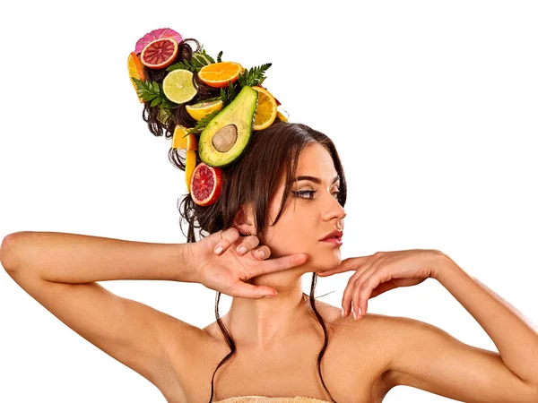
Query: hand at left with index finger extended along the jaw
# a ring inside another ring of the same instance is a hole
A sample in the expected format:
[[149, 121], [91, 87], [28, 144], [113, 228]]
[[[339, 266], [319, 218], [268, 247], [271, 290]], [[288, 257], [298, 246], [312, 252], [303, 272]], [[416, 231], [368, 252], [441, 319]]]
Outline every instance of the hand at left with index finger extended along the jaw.
[[[221, 246], [221, 254], [214, 249]], [[260, 246], [257, 236], [244, 236], [239, 239], [239, 231], [235, 227], [215, 232], [189, 245], [189, 256], [195, 278], [205, 287], [214, 289], [228, 296], [245, 298], [263, 298], [276, 296], [273, 287], [255, 286], [245, 281], [261, 274], [287, 270], [307, 261], [306, 253], [295, 253], [265, 261], [271, 254], [268, 246]], [[239, 254], [240, 245], [247, 248], [247, 253]], [[257, 251], [263, 250], [263, 258]]]

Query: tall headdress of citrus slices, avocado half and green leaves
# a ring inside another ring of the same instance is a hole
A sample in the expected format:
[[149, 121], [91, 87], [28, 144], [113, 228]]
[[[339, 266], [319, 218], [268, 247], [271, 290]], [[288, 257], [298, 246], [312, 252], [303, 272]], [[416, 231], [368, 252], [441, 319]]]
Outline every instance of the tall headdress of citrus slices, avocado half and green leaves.
[[185, 168], [187, 191], [201, 206], [219, 199], [221, 168], [243, 155], [255, 131], [288, 120], [278, 110], [280, 102], [261, 85], [270, 63], [248, 70], [222, 62], [221, 56], [215, 62], [197, 40], [163, 28], [138, 39], [127, 60], [144, 112], [158, 116], [169, 133], [173, 130], [171, 153], [186, 151], [185, 164], [179, 165]]

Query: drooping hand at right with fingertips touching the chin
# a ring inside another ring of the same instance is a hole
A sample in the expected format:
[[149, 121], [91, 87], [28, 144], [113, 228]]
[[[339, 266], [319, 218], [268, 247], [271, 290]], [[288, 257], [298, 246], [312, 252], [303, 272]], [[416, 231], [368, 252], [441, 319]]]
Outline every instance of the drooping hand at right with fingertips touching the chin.
[[[436, 249], [377, 252], [343, 260], [335, 269], [317, 273], [320, 277], [356, 270], [343, 291], [343, 317], [368, 310], [368, 300], [396, 287], [410, 287], [428, 278], [437, 279], [438, 262], [444, 253]], [[352, 305], [351, 305], [352, 304]]]

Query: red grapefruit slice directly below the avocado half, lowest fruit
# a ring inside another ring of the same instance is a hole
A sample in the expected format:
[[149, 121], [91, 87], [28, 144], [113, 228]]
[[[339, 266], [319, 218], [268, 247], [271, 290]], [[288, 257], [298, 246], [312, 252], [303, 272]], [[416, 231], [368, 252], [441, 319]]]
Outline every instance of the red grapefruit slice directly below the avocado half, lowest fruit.
[[219, 199], [221, 191], [222, 169], [220, 167], [210, 167], [204, 162], [198, 164], [190, 182], [190, 194], [195, 204], [211, 206]]

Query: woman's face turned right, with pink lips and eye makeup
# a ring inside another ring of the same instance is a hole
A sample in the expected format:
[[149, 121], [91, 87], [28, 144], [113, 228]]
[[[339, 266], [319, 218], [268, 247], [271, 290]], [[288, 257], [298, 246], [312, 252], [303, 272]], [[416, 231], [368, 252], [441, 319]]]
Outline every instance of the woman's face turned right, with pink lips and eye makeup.
[[[346, 214], [337, 200], [340, 181], [331, 155], [318, 143], [308, 144], [299, 155], [297, 175], [318, 178], [299, 180], [291, 187], [290, 199], [279, 221], [271, 227], [282, 202], [285, 177], [269, 202], [266, 244], [273, 257], [307, 253], [309, 269], [327, 270], [341, 262], [340, 246], [322, 242]], [[343, 228], [343, 221], [338, 224]], [[314, 265], [312, 268], [310, 265]]]

